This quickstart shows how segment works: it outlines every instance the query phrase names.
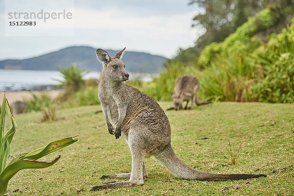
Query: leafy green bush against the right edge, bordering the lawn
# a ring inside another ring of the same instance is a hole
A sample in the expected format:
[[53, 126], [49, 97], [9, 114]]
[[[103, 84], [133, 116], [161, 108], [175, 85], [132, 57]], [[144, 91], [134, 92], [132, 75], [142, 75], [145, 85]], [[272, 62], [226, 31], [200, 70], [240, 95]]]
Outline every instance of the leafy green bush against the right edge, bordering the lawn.
[[294, 102], [294, 19], [256, 53], [264, 77], [253, 86], [254, 97], [263, 102]]

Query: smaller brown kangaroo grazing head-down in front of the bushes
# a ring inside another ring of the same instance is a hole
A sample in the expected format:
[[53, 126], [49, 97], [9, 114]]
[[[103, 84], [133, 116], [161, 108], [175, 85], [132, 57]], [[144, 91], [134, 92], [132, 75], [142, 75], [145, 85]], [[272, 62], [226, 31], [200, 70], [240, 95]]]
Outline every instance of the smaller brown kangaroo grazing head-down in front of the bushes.
[[182, 103], [187, 101], [185, 109], [187, 109], [189, 100], [192, 98], [191, 106], [188, 109], [194, 108], [194, 103], [203, 105], [211, 103], [209, 101], [201, 102], [197, 97], [199, 89], [199, 80], [194, 75], [183, 75], [175, 79], [174, 93], [172, 93], [174, 109], [182, 109]]

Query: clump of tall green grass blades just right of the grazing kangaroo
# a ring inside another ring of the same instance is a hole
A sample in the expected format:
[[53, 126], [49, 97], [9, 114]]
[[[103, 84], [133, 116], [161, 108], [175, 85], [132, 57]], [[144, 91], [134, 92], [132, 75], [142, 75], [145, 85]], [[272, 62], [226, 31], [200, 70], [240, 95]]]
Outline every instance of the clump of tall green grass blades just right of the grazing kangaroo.
[[253, 101], [252, 84], [262, 75], [249, 56], [239, 52], [217, 56], [210, 66], [199, 74], [199, 96], [208, 100]]

